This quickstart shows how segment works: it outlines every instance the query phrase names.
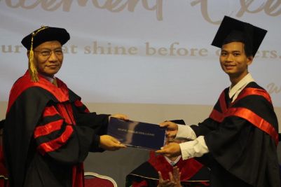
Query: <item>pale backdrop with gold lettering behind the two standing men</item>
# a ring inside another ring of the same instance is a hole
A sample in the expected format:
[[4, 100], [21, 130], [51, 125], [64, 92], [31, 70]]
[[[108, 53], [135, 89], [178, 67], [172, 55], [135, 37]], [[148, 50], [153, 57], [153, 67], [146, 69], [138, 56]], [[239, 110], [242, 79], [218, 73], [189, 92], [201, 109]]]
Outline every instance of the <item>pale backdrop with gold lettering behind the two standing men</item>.
[[[219, 49], [210, 45], [228, 15], [268, 30], [249, 71], [270, 93], [280, 119], [280, 14], [280, 0], [0, 0], [0, 117], [13, 82], [27, 69], [20, 41], [48, 25], [64, 27], [71, 35], [57, 76], [90, 109], [121, 111], [153, 123], [168, 118], [198, 122], [229, 85], [219, 67]], [[155, 106], [151, 113], [145, 104]], [[202, 115], [191, 116], [196, 105]], [[181, 106], [186, 114], [179, 115]], [[113, 156], [124, 157], [122, 152]], [[97, 165], [89, 168], [111, 174], [123, 186], [125, 173], [136, 162], [119, 174]]]

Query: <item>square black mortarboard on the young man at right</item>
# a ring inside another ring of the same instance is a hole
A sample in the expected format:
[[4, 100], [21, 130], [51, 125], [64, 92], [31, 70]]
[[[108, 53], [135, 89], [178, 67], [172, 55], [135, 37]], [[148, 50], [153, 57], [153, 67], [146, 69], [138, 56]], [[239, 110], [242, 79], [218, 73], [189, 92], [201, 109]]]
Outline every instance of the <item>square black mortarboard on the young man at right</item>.
[[241, 41], [245, 43], [246, 54], [254, 57], [264, 36], [266, 36], [266, 32], [265, 29], [261, 29], [247, 22], [224, 16], [217, 34], [214, 36], [212, 46], [221, 48], [226, 43]]

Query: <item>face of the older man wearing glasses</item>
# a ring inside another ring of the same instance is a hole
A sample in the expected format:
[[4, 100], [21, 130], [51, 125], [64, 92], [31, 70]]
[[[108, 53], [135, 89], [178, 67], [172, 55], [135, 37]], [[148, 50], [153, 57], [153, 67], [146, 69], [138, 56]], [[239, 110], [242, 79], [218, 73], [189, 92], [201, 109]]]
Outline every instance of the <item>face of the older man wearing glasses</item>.
[[62, 45], [59, 41], [41, 43], [34, 48], [34, 60], [39, 74], [53, 77], [62, 67]]

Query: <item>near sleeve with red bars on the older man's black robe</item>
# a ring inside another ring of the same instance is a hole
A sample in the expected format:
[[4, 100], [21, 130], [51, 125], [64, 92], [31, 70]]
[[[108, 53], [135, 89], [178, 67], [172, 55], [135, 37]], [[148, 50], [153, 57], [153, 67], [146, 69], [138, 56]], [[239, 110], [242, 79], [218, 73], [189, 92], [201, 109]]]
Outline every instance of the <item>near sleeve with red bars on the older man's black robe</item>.
[[[57, 106], [49, 104], [34, 130], [37, 151], [66, 164], [83, 162], [89, 151], [102, 151], [98, 148], [98, 134], [104, 131], [108, 123], [107, 115], [79, 113], [75, 106], [71, 109], [76, 124], [67, 122]], [[70, 112], [67, 110], [67, 113]]]

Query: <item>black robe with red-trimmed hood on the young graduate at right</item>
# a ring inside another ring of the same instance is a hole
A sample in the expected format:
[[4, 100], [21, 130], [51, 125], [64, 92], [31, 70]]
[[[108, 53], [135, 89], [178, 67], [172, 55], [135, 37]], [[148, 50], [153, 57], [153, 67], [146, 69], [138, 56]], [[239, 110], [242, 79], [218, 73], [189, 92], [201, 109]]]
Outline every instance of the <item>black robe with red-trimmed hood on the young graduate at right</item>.
[[252, 82], [227, 103], [228, 88], [210, 118], [191, 126], [205, 136], [210, 153], [200, 159], [211, 168], [211, 186], [280, 187], [278, 123], [270, 96]]

